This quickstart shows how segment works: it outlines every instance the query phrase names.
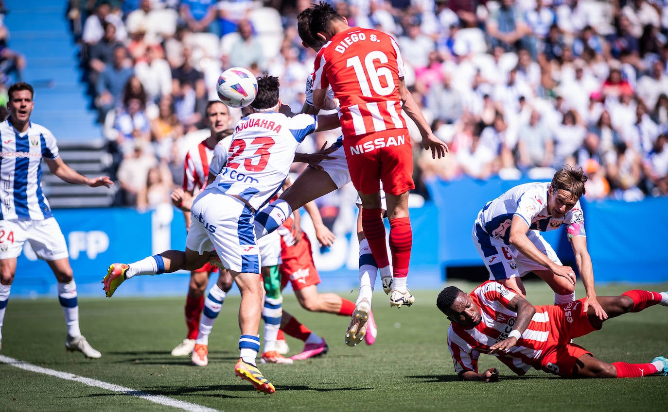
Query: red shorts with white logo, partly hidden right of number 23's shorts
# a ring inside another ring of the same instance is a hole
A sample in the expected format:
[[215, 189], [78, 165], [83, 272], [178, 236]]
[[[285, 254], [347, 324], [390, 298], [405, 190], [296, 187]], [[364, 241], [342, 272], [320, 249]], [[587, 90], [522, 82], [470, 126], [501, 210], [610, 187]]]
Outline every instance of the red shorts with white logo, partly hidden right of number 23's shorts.
[[301, 241], [294, 246], [288, 246], [281, 237], [281, 260], [283, 260], [279, 265], [281, 289], [288, 284], [288, 281], [292, 284], [293, 291], [320, 283], [320, 276], [313, 264], [311, 241], [306, 233], [303, 233]]

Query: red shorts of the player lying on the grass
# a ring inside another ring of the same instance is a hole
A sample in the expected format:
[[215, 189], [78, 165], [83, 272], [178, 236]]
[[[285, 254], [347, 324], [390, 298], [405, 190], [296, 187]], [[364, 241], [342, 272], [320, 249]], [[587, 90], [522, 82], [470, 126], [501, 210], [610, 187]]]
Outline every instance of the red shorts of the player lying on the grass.
[[575, 377], [573, 369], [582, 355], [591, 355], [587, 349], [570, 343], [570, 339], [587, 335], [597, 330], [589, 322], [587, 312], [582, 310], [585, 299], [570, 303], [550, 305], [550, 341], [540, 358], [540, 369], [561, 377]]

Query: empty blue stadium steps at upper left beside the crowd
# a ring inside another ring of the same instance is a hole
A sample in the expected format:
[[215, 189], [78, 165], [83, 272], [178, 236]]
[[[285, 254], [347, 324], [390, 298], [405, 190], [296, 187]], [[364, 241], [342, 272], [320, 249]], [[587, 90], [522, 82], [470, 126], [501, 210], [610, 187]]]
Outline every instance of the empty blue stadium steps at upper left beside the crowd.
[[32, 119], [59, 142], [99, 144], [102, 127], [81, 83], [79, 48], [65, 19], [67, 1], [7, 0], [5, 7], [9, 48], [25, 55], [23, 80], [35, 88]]

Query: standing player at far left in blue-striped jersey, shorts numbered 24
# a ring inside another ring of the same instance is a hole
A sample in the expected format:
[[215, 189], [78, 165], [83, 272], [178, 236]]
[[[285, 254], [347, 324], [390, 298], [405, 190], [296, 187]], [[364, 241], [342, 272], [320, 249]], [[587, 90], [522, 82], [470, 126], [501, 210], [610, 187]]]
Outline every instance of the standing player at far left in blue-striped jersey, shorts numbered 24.
[[[108, 176], [80, 175], [61, 159], [53, 134], [30, 121], [34, 105], [31, 85], [15, 83], [7, 94], [9, 118], [0, 123], [0, 328], [17, 257], [27, 241], [35, 255], [47, 261], [57, 279], [58, 299], [67, 324], [65, 348], [99, 358], [100, 352], [90, 346], [79, 330], [77, 289], [67, 244], [42, 191], [41, 161], [43, 159], [51, 173], [67, 183], [110, 187], [114, 182]], [[0, 334], [0, 345], [1, 339]]]

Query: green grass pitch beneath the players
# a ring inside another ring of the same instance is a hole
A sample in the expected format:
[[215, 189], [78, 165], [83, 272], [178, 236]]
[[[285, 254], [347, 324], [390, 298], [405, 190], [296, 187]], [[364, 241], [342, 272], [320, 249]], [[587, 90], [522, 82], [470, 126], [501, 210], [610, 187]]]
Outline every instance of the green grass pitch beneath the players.
[[[159, 281], [156, 279], [156, 281]], [[476, 284], [455, 282], [470, 291]], [[527, 285], [530, 301], [550, 303], [541, 282]], [[218, 411], [659, 411], [665, 409], [668, 377], [568, 381], [531, 371], [516, 377], [495, 358], [482, 355], [480, 369], [497, 367], [499, 383], [456, 379], [446, 347], [448, 321], [432, 291], [415, 291], [413, 307], [390, 309], [380, 288], [374, 295], [379, 328], [372, 347], [347, 347], [349, 319], [308, 313], [292, 293], [284, 307], [325, 337], [329, 353], [294, 365], [262, 365], [274, 395], [253, 391], [234, 376], [238, 358], [238, 296], [226, 299], [209, 345], [208, 367], [190, 365], [170, 351], [183, 339], [184, 297], [79, 299], [81, 330], [102, 359], [84, 359], [64, 348], [63, 314], [53, 299], [10, 299], [0, 355], [82, 377], [164, 395]], [[665, 291], [663, 285], [607, 285], [599, 295], [628, 289]], [[355, 293], [342, 296], [354, 301]], [[578, 289], [578, 297], [584, 295]], [[291, 354], [302, 343], [288, 338]], [[607, 322], [603, 330], [577, 339], [605, 361], [647, 362], [668, 355], [668, 307], [655, 306]], [[23, 371], [0, 363], [0, 411], [176, 411], [138, 397]]]

